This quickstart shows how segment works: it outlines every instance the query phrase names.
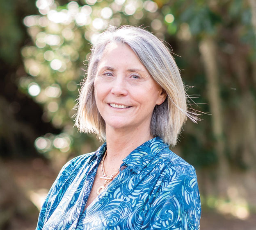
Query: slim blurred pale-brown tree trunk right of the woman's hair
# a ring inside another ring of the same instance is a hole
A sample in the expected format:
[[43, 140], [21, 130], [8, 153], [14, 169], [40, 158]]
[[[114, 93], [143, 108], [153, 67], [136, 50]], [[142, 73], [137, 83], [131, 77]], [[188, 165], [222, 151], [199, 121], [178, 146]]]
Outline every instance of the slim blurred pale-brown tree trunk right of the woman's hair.
[[217, 170], [217, 191], [215, 195], [226, 196], [226, 187], [228, 182], [229, 165], [224, 155], [225, 143], [222, 120], [222, 106], [219, 95], [219, 74], [216, 61], [216, 46], [213, 38], [205, 38], [201, 41], [200, 53], [206, 72], [207, 92], [212, 114], [212, 130], [216, 140], [215, 150], [218, 156]]

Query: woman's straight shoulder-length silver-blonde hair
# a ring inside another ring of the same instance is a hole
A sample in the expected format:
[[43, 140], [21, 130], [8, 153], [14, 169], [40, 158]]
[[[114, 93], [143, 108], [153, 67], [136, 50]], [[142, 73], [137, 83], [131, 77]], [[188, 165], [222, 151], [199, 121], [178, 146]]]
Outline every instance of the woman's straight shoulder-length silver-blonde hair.
[[156, 36], [139, 27], [110, 26], [99, 35], [91, 48], [87, 77], [82, 81], [75, 107], [78, 110], [75, 126], [81, 132], [96, 133], [100, 140], [105, 140], [105, 121], [96, 106], [94, 79], [103, 51], [112, 42], [128, 45], [155, 82], [165, 90], [167, 98], [153, 110], [151, 135], [159, 136], [165, 143], [174, 146], [187, 117], [194, 122], [197, 117], [187, 110], [187, 95], [181, 74], [168, 48]]

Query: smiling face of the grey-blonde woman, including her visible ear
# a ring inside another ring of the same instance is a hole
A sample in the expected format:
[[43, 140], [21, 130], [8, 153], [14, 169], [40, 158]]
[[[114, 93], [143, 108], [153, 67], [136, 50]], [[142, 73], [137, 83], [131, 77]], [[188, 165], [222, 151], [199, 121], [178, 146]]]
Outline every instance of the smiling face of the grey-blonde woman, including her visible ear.
[[133, 50], [123, 43], [109, 43], [105, 47], [94, 87], [106, 130], [150, 131], [153, 109], [166, 97]]

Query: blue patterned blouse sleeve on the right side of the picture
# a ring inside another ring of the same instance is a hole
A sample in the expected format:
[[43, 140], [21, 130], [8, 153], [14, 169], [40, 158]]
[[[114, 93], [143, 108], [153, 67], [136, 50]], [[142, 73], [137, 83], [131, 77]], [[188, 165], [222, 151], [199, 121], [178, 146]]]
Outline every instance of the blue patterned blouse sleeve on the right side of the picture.
[[199, 230], [201, 202], [196, 176], [171, 180], [147, 212], [143, 230]]

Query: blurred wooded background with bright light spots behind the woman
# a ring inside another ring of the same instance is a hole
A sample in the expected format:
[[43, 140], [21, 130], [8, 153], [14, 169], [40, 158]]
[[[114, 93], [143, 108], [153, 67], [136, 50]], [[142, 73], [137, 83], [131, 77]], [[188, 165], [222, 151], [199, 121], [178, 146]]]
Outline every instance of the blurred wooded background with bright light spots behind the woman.
[[205, 113], [172, 149], [197, 170], [201, 230], [256, 230], [256, 0], [1, 0], [0, 229], [34, 229], [62, 165], [101, 145], [72, 108], [110, 24], [169, 43]]

